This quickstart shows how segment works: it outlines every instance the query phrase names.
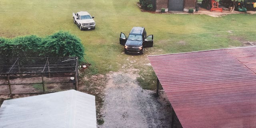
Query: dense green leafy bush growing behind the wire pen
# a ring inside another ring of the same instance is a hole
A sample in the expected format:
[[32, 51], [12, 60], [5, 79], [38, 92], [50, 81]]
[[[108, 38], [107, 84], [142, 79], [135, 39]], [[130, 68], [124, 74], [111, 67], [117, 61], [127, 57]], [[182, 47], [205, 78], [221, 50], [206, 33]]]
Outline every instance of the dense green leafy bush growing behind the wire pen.
[[84, 56], [81, 40], [70, 32], [60, 31], [46, 38], [35, 35], [0, 38], [0, 58], [62, 56], [76, 56], [79, 59]]

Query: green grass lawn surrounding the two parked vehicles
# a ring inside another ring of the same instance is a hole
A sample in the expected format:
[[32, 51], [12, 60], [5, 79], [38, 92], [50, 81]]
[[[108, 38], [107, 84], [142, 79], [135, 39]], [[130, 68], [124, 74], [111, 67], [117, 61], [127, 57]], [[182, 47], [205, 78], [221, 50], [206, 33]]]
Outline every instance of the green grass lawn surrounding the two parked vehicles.
[[[148, 55], [190, 52], [242, 46], [256, 41], [256, 15], [230, 14], [211, 17], [197, 14], [154, 14], [142, 12], [139, 0], [1, 0], [0, 36], [28, 34], [44, 37], [59, 30], [78, 36], [85, 58], [92, 64], [89, 74], [105, 74], [120, 68], [138, 68], [141, 84], [155, 81]], [[88, 11], [95, 16], [96, 29], [80, 31], [72, 12]], [[133, 26], [144, 26], [154, 34], [154, 47], [142, 56], [123, 53], [120, 32], [128, 36]], [[136, 60], [136, 62], [131, 62]], [[147, 87], [146, 87], [147, 88]], [[148, 89], [152, 89], [148, 87]]]

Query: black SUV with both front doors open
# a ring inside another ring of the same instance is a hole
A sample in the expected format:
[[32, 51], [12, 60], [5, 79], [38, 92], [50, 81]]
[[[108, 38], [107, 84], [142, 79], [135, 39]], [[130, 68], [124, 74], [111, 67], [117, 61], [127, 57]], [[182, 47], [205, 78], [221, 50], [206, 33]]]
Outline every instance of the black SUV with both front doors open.
[[124, 53], [143, 54], [144, 48], [153, 47], [153, 35], [147, 36], [143, 27], [133, 27], [128, 38], [121, 32], [120, 44], [124, 46]]

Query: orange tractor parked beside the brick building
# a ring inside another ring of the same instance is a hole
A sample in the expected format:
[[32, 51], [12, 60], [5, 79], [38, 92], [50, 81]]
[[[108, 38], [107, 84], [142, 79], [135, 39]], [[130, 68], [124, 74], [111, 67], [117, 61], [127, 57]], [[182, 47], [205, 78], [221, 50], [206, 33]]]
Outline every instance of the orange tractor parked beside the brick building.
[[219, 8], [219, 4], [215, 0], [202, 0], [202, 7], [207, 10], [222, 12], [222, 8]]

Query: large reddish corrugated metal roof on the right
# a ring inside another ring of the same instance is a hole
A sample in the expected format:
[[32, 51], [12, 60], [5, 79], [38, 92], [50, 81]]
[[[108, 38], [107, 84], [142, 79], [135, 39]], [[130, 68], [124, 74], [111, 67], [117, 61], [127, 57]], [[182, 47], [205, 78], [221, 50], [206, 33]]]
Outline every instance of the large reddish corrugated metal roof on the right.
[[183, 128], [256, 128], [256, 47], [148, 59]]

